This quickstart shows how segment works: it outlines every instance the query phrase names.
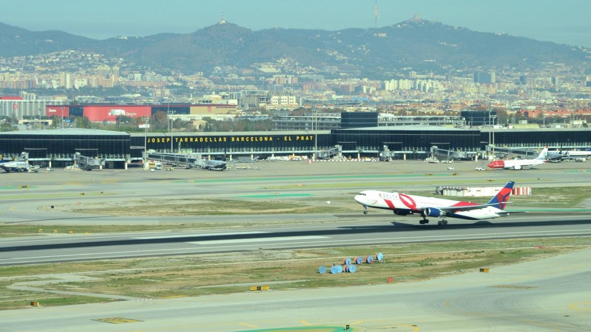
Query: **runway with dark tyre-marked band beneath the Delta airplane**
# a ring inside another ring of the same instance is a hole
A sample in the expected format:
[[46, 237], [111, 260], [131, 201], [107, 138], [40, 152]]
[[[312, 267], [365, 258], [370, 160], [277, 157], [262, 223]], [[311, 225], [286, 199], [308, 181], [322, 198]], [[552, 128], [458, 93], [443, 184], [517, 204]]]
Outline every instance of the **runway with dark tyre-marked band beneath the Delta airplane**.
[[[591, 235], [586, 214], [510, 216], [492, 222], [450, 219], [447, 226], [418, 224], [418, 217], [329, 224], [255, 227], [204, 232], [135, 232], [106, 235], [44, 235], [0, 239], [0, 265], [84, 261], [247, 250], [318, 248], [453, 240]], [[335, 216], [333, 216], [334, 218]], [[349, 216], [343, 216], [347, 219]]]

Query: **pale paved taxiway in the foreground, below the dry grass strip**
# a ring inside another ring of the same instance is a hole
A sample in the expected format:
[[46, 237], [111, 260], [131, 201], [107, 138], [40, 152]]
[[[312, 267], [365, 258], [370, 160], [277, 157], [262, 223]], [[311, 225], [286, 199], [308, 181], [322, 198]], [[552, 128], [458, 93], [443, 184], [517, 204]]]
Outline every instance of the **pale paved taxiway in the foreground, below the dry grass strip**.
[[[589, 331], [589, 250], [422, 282], [0, 312], [2, 331]], [[327, 275], [327, 278], [338, 275]], [[109, 324], [122, 317], [132, 323]]]

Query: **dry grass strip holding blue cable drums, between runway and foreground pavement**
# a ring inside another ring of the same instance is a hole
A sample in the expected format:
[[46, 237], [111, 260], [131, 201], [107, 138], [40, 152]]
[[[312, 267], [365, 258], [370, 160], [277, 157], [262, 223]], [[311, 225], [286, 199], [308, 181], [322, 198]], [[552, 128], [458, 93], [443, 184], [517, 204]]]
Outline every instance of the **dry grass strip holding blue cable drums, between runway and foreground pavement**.
[[[85, 282], [60, 282], [46, 289], [116, 294], [140, 298], [174, 298], [206, 294], [246, 292], [249, 287], [269, 285], [272, 290], [417, 281], [439, 276], [493, 268], [580, 250], [591, 246], [591, 237], [473, 240], [401, 245], [350, 246], [324, 249], [259, 250], [256, 252], [68, 262], [0, 268], [0, 309], [88, 302], [87, 297], [18, 291], [9, 284], [67, 278], [83, 274], [100, 278]], [[321, 275], [317, 268], [354, 258], [384, 253], [383, 263], [362, 264], [355, 274]], [[39, 287], [39, 286], [37, 286]], [[47, 299], [63, 299], [51, 300]], [[99, 302], [109, 301], [104, 298]]]

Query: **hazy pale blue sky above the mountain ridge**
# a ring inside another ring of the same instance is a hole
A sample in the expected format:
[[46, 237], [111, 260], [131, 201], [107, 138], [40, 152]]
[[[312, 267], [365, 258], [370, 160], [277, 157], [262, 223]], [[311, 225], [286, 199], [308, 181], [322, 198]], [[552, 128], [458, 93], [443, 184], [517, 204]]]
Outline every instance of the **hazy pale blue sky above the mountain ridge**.
[[[6, 0], [5, 0], [6, 1]], [[91, 38], [187, 33], [226, 20], [252, 30], [374, 27], [375, 0], [20, 0], [0, 22]], [[378, 0], [378, 27], [411, 18], [591, 47], [590, 0]], [[8, 10], [9, 9], [9, 10]]]

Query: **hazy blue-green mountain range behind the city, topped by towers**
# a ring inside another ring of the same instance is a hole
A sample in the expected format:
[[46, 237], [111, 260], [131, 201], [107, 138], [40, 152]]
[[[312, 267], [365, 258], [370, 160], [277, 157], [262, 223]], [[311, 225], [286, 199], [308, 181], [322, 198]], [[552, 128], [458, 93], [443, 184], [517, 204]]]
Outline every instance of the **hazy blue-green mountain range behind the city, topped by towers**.
[[95, 51], [141, 66], [186, 73], [215, 66], [249, 67], [278, 60], [323, 69], [358, 70], [380, 76], [407, 70], [445, 73], [453, 69], [536, 69], [544, 62], [585, 67], [584, 47], [506, 34], [472, 31], [420, 18], [380, 28], [339, 31], [265, 29], [220, 23], [190, 34], [94, 40], [63, 31], [29, 31], [0, 23], [0, 57], [63, 50]]

